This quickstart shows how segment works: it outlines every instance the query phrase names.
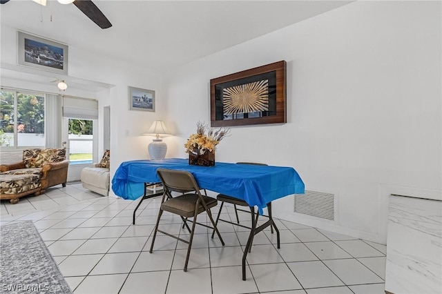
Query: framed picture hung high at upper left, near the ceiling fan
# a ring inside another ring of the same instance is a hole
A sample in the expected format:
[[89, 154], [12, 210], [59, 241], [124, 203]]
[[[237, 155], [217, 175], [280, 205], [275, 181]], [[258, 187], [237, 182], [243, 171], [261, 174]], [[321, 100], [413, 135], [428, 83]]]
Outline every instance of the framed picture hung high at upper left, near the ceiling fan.
[[68, 75], [68, 46], [18, 32], [18, 60], [20, 66], [48, 70]]

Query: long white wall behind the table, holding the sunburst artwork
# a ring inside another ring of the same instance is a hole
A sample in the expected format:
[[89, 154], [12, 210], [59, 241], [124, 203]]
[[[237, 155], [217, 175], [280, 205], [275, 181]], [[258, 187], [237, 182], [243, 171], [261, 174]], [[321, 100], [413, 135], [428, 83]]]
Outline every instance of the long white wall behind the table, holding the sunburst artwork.
[[358, 1], [175, 70], [170, 155], [210, 121], [210, 79], [280, 60], [287, 124], [232, 128], [217, 160], [294, 166], [336, 195], [336, 220], [293, 213], [292, 197], [275, 215], [385, 243], [394, 187], [441, 193], [441, 3]]

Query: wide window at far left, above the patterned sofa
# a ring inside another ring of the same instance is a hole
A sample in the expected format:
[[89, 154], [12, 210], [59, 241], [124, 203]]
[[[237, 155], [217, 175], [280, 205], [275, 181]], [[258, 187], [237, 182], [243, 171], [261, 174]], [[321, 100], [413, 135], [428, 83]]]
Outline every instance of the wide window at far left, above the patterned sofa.
[[0, 91], [0, 146], [45, 146], [43, 94]]

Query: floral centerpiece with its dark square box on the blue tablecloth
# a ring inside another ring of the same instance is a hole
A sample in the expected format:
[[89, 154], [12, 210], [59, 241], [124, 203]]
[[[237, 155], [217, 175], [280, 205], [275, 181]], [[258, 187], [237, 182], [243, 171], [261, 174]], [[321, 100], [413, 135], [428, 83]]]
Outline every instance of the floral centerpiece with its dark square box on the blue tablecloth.
[[229, 128], [213, 130], [213, 128], [198, 121], [196, 134], [192, 134], [184, 144], [186, 153], [189, 153], [189, 164], [214, 166], [216, 146], [220, 144], [224, 137], [229, 135], [229, 132]]

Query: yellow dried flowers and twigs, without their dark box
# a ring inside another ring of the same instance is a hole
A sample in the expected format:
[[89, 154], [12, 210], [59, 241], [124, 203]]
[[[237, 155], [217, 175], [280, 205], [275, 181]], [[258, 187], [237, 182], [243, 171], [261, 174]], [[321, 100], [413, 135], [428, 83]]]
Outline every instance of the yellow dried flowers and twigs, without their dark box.
[[[203, 155], [205, 153], [213, 153], [220, 141], [229, 135], [229, 128], [220, 128], [213, 130], [206, 124], [198, 121], [196, 124], [196, 134], [192, 134], [187, 139], [184, 147], [186, 153], [193, 153], [195, 155]], [[207, 134], [206, 134], [207, 133]]]

